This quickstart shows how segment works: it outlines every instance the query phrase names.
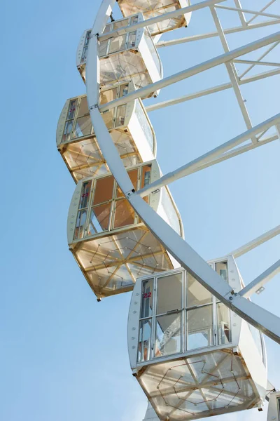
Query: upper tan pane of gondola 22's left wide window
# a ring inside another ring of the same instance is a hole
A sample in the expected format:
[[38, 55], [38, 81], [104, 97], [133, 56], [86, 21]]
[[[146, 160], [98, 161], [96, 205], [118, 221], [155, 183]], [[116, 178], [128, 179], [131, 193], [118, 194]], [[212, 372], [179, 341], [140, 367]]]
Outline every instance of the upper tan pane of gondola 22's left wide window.
[[158, 278], [157, 313], [182, 308], [182, 273]]

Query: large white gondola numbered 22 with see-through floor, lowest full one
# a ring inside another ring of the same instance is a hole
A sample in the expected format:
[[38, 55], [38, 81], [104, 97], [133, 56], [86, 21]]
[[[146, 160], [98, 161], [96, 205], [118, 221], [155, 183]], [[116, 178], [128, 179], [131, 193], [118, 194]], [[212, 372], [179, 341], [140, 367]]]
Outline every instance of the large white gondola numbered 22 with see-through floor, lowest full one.
[[[242, 288], [232, 256], [209, 264], [232, 290]], [[185, 269], [137, 279], [127, 329], [132, 372], [160, 420], [195, 420], [263, 405], [262, 334]], [[153, 410], [148, 408], [146, 420], [155, 420]]]

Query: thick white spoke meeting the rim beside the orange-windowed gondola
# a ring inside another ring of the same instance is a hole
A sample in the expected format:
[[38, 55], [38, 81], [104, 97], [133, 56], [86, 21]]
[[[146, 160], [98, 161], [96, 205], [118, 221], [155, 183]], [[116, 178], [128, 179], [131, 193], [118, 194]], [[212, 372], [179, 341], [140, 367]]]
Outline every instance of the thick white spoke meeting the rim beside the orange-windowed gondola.
[[232, 149], [236, 147], [237, 145], [240, 145], [241, 143], [245, 142], [245, 140], [248, 140], [252, 136], [260, 133], [260, 131], [266, 128], [270, 128], [274, 126], [276, 123], [279, 123], [279, 121], [280, 121], [280, 113], [276, 114], [273, 117], [270, 117], [270, 119], [262, 121], [262, 123], [258, 124], [258, 126], [255, 126], [251, 128], [250, 130], [247, 130], [246, 132], [241, 133], [235, 138], [228, 140], [228, 142], [223, 143], [223, 145], [220, 145], [214, 149], [211, 149], [211, 151], [207, 152], [206, 154], [203, 154], [202, 156], [200, 156], [197, 159], [194, 159], [193, 161], [190, 161], [189, 163], [186, 163], [186, 165], [183, 165], [180, 168], [177, 168], [175, 171], [172, 171], [171, 173], [163, 175], [161, 178], [159, 178], [158, 180], [155, 180], [150, 185], [147, 185], [143, 189], [138, 190], [136, 194], [141, 197], [146, 196], [146, 194], [153, 193], [155, 192], [155, 190], [160, 189], [160, 187], [169, 185], [171, 182], [174, 182], [176, 180], [179, 180], [180, 178], [185, 177], [186, 175], [189, 175], [190, 173], [194, 172], [193, 171], [194, 168], [200, 167], [204, 163], [208, 163], [211, 159], [214, 159], [217, 156], [223, 154], [224, 152], [227, 152], [229, 149]]

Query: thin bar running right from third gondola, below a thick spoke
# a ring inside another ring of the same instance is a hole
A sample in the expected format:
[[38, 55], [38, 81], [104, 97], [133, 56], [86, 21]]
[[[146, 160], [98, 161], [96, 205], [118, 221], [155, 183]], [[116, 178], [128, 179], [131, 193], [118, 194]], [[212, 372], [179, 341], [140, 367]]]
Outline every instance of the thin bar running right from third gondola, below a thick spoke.
[[[255, 74], [254, 76], [246, 77], [246, 79], [242, 79], [241, 81], [239, 81], [239, 84], [244, 85], [245, 83], [255, 82], [260, 79], [265, 79], [270, 76], [276, 76], [276, 74], [280, 74], [280, 69], [274, 69], [274, 70], [270, 70], [269, 72], [262, 72], [262, 73]], [[155, 111], [156, 109], [170, 107], [171, 105], [176, 105], [176, 104], [180, 104], [181, 102], [194, 100], [195, 98], [200, 98], [204, 95], [209, 95], [211, 93], [225, 91], [225, 89], [230, 89], [230, 88], [232, 88], [231, 83], [223, 83], [222, 85], [217, 85], [217, 86], [214, 86], [213, 88], [207, 88], [207, 89], [204, 89], [203, 91], [198, 91], [195, 93], [189, 93], [188, 95], [183, 95], [173, 100], [167, 100], [167, 101], [157, 102], [156, 104], [153, 104], [153, 105], [148, 105], [146, 107], [146, 111], [151, 112], [151, 111]]]

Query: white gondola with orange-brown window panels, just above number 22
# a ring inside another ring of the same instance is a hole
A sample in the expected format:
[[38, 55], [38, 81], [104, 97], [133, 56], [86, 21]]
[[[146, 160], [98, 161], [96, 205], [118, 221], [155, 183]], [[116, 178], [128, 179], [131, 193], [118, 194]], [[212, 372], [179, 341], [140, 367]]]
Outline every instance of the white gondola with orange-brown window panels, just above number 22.
[[[160, 178], [156, 160], [127, 171], [135, 190]], [[181, 218], [167, 187], [146, 196], [146, 201], [183, 236]], [[70, 250], [97, 298], [132, 290], [138, 276], [178, 267], [139, 220], [113, 175], [78, 182], [67, 235]]]

